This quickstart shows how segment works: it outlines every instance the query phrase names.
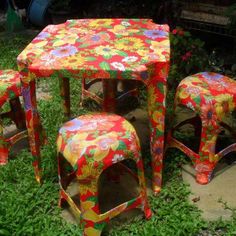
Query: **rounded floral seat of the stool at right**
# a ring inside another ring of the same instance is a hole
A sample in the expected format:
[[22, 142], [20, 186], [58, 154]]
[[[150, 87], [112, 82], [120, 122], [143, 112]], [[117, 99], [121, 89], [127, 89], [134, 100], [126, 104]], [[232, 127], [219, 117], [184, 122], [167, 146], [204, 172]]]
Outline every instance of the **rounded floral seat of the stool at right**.
[[235, 89], [236, 82], [233, 79], [213, 72], [202, 72], [180, 82], [176, 103], [202, 114], [203, 122], [212, 120], [211, 116], [222, 119], [236, 107]]

